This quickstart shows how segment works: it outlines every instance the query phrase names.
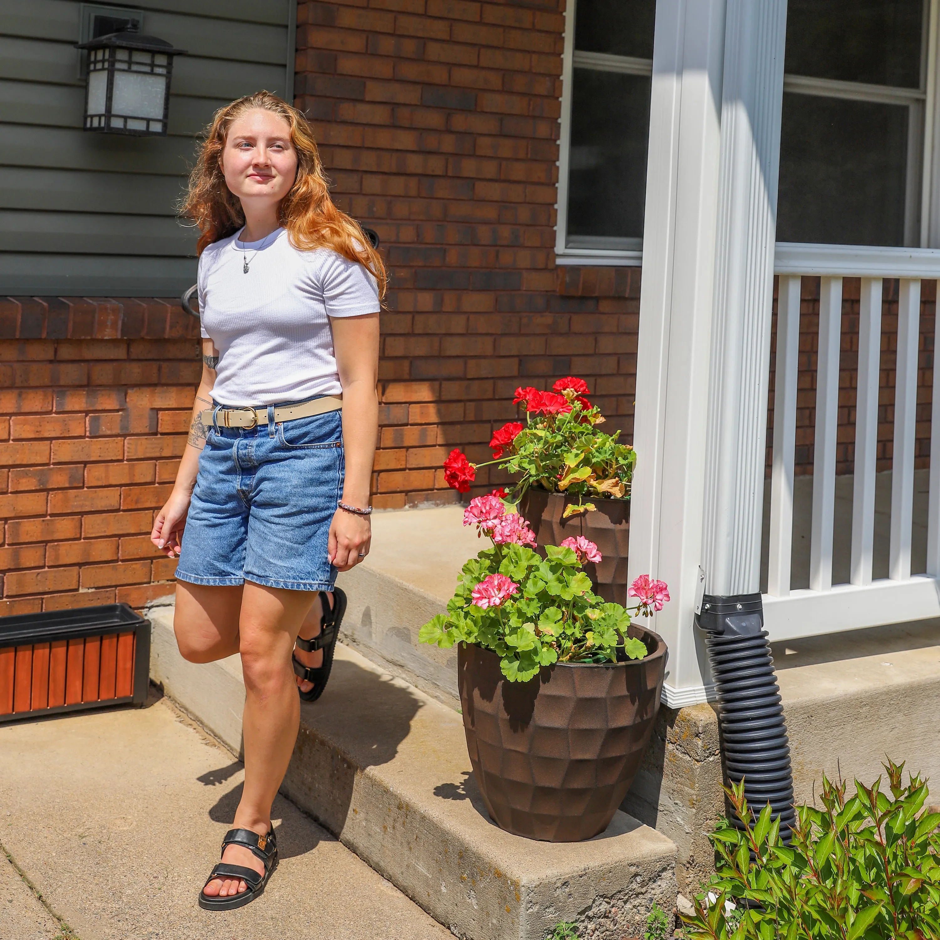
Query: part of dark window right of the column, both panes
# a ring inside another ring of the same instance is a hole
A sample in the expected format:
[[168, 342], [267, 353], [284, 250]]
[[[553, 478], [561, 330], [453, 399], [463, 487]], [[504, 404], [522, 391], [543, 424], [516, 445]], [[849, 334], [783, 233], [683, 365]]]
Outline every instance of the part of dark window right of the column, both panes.
[[930, 0], [789, 0], [777, 239], [921, 243]]

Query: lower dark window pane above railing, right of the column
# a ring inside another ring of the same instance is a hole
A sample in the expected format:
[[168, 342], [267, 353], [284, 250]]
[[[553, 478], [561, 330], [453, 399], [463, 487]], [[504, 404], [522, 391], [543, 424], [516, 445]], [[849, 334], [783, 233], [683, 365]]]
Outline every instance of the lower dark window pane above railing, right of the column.
[[777, 240], [902, 245], [909, 114], [785, 94]]

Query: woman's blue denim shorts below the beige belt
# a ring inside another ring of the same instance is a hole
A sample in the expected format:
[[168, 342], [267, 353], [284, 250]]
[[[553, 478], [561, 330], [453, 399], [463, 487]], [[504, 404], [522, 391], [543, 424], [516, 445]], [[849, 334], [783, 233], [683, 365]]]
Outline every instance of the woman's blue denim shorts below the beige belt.
[[244, 581], [332, 590], [330, 523], [342, 498], [341, 412], [263, 427], [212, 427], [176, 576], [196, 585]]

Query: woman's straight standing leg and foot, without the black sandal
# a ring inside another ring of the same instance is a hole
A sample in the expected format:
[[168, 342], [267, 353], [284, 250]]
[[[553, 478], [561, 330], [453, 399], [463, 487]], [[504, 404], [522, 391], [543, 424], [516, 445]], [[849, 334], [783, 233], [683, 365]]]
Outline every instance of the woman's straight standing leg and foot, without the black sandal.
[[[245, 582], [239, 620], [244, 676], [244, 790], [235, 828], [264, 835], [271, 827], [271, 805], [287, 773], [300, 726], [300, 699], [290, 666], [290, 651], [316, 594]], [[248, 849], [229, 845], [223, 861], [262, 873]], [[209, 896], [245, 890], [244, 882], [215, 879]]]

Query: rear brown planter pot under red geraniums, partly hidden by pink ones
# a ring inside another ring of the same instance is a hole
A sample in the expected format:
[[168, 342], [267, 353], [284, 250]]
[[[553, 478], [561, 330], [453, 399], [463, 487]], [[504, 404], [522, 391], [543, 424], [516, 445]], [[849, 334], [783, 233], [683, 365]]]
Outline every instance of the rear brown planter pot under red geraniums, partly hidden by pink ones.
[[546, 545], [560, 545], [565, 539], [579, 535], [594, 542], [603, 560], [597, 565], [588, 561], [584, 566], [585, 572], [595, 592], [604, 601], [626, 606], [630, 500], [593, 497], [590, 502], [597, 507], [593, 512], [581, 512], [562, 519], [565, 507], [577, 502], [577, 496], [530, 487], [519, 503], [519, 513], [535, 532], [540, 549]]

